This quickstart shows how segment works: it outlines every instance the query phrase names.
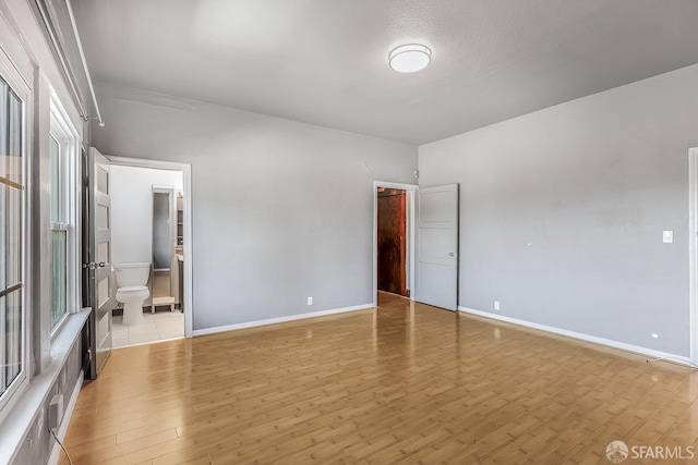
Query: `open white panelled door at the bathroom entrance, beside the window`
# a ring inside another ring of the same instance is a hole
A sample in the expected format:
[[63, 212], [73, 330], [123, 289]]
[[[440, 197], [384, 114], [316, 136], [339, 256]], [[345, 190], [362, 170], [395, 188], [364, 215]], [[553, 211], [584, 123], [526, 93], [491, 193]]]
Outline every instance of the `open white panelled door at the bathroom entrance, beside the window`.
[[111, 310], [115, 277], [111, 272], [110, 163], [97, 149], [89, 149], [89, 269], [93, 304], [94, 374], [98, 375], [111, 354]]

